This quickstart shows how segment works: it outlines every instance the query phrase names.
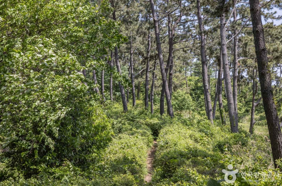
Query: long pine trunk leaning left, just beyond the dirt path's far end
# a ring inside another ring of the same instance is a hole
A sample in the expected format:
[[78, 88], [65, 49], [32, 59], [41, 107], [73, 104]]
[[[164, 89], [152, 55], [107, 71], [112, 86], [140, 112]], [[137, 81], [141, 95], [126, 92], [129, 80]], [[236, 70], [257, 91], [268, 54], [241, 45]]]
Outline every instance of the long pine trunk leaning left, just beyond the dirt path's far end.
[[151, 9], [152, 9], [152, 14], [153, 14], [153, 19], [154, 19], [154, 27], [155, 27], [155, 35], [156, 35], [156, 43], [157, 43], [157, 50], [158, 50], [158, 56], [159, 56], [159, 63], [160, 63], [160, 68], [161, 68], [161, 76], [162, 76], [162, 81], [164, 84], [164, 92], [166, 95], [166, 100], [167, 100], [167, 107], [168, 107], [168, 113], [171, 117], [174, 116], [173, 114], [173, 107], [171, 104], [171, 99], [170, 99], [170, 91], [168, 88], [168, 84], [167, 84], [167, 75], [165, 72], [165, 68], [164, 68], [164, 59], [163, 59], [163, 53], [162, 53], [162, 49], [161, 49], [161, 41], [160, 41], [160, 33], [159, 33], [159, 25], [158, 25], [158, 19], [157, 19], [157, 15], [155, 12], [155, 6], [154, 6], [154, 1], [150, 0], [151, 3]]

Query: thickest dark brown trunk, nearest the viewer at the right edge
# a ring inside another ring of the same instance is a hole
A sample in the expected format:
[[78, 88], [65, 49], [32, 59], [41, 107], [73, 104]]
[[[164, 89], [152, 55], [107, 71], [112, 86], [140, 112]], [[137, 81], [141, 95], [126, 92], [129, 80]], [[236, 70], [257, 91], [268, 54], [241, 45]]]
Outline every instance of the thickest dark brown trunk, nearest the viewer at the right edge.
[[269, 131], [274, 167], [278, 167], [276, 161], [282, 158], [282, 133], [272, 94], [271, 74], [268, 67], [267, 50], [265, 47], [260, 8], [259, 0], [250, 0], [250, 13], [253, 24], [253, 36], [255, 41], [263, 107]]

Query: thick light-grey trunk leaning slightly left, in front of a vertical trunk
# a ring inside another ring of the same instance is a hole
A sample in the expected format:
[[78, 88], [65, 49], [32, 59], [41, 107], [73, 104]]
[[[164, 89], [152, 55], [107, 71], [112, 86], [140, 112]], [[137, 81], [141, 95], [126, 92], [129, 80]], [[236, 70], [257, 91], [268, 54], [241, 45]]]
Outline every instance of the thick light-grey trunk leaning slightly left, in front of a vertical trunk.
[[238, 120], [236, 120], [235, 107], [232, 96], [231, 79], [229, 72], [229, 62], [227, 60], [227, 46], [226, 46], [226, 33], [225, 33], [225, 14], [220, 16], [220, 41], [221, 41], [221, 55], [223, 64], [224, 82], [226, 88], [226, 97], [229, 113], [229, 121], [231, 132], [238, 132]]

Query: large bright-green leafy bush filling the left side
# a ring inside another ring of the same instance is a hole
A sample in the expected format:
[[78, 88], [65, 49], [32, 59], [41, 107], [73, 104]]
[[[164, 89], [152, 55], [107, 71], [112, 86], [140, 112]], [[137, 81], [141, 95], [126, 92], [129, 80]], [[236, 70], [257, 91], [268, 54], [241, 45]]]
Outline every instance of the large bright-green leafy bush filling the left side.
[[[93, 5], [84, 0], [0, 4], [0, 156], [10, 173], [53, 174], [64, 162], [85, 169], [90, 154], [111, 140], [109, 120], [81, 71], [102, 61], [99, 56], [107, 51], [100, 48], [125, 38]], [[101, 7], [110, 10], [106, 2]], [[88, 55], [80, 55], [82, 50]]]

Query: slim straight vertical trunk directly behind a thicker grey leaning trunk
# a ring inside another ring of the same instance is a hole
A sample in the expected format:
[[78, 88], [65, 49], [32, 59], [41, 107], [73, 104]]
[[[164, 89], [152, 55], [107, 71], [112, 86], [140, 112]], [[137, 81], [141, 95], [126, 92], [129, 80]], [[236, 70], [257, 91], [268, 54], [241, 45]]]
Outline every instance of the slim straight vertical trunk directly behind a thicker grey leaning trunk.
[[[234, 1], [234, 11], [233, 11], [233, 19], [234, 24], [237, 21], [237, 13], [236, 13], [236, 1]], [[235, 25], [234, 25], [235, 26]], [[238, 31], [234, 29], [234, 35], [237, 35]], [[235, 110], [235, 123], [238, 123], [238, 108], [237, 108], [237, 77], [238, 77], [238, 46], [237, 46], [237, 36], [234, 37], [233, 42], [233, 101], [234, 101], [234, 110]]]

